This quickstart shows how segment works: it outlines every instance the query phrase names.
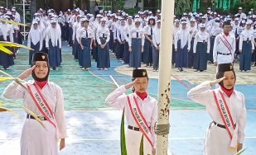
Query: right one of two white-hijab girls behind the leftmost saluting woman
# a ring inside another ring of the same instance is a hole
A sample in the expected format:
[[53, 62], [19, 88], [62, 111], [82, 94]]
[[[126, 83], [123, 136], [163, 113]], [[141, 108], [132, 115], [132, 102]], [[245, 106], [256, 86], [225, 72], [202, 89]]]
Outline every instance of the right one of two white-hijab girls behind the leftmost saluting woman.
[[58, 70], [57, 67], [60, 66], [61, 32], [56, 27], [56, 23], [56, 20], [51, 20], [51, 27], [46, 32], [49, 65], [53, 70]]

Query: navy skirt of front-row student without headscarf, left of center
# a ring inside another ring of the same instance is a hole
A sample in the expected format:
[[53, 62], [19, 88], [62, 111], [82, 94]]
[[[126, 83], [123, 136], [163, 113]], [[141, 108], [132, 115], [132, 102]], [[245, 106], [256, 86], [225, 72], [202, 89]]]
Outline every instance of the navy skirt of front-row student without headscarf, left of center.
[[84, 46], [84, 49], [81, 49], [80, 65], [83, 68], [89, 68], [89, 67], [91, 67], [90, 38], [89, 39], [82, 38], [81, 42], [82, 42], [82, 45]]

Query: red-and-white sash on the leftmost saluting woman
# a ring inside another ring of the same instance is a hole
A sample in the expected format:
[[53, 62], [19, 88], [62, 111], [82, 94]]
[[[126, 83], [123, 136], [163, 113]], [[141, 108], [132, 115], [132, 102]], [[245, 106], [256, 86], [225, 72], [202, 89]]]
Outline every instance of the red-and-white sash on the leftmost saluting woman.
[[29, 85], [27, 84], [27, 88], [30, 91], [33, 101], [35, 101], [36, 106], [41, 111], [41, 114], [44, 115], [46, 119], [56, 127], [56, 121], [51, 111], [51, 108], [50, 106], [48, 106], [45, 98], [41, 95], [41, 91], [36, 86], [36, 83], [33, 84], [33, 87], [29, 87]]

